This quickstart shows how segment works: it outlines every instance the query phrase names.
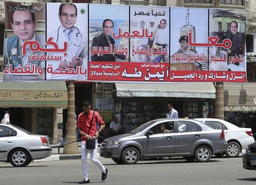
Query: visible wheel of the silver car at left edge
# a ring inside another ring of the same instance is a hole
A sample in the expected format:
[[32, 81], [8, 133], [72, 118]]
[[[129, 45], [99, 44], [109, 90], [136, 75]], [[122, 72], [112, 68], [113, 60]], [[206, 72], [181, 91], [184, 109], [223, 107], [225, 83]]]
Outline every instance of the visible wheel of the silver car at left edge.
[[25, 149], [20, 148], [11, 151], [9, 161], [14, 167], [23, 167], [30, 163], [30, 157]]

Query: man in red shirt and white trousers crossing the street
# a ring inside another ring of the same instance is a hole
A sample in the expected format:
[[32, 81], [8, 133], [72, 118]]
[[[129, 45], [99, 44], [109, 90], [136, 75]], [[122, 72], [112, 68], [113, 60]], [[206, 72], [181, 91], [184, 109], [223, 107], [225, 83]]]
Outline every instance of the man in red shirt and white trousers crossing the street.
[[[89, 173], [87, 167], [87, 154], [89, 149], [86, 149], [86, 142], [92, 141], [95, 139], [95, 148], [90, 149], [90, 158], [91, 161], [97, 165], [101, 171], [101, 180], [105, 180], [108, 174], [108, 168], [103, 166], [101, 162], [97, 159], [97, 148], [98, 148], [98, 137], [99, 133], [105, 127], [103, 119], [100, 117], [97, 111], [91, 110], [91, 102], [83, 101], [82, 108], [84, 112], [79, 114], [77, 119], [77, 131], [82, 135], [81, 143], [81, 159], [82, 159], [82, 168], [84, 173], [84, 179], [79, 184], [90, 183]], [[100, 128], [97, 131], [97, 122], [99, 122]]]

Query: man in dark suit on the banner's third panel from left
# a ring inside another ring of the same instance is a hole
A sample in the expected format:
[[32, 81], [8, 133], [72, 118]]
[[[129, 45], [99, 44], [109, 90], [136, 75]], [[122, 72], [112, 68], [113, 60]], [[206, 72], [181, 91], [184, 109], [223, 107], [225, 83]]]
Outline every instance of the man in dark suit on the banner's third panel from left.
[[[102, 24], [102, 33], [95, 36], [92, 39], [92, 47], [114, 47], [115, 40], [111, 37], [114, 30], [114, 22], [111, 19], [105, 19]], [[92, 61], [116, 61], [118, 59], [124, 60], [126, 57], [124, 54], [93, 54], [91, 56]]]

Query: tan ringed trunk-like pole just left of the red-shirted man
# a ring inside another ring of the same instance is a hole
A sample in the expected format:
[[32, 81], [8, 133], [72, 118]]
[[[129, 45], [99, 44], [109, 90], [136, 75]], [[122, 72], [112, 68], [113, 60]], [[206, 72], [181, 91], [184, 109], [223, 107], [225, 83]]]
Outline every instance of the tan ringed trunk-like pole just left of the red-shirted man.
[[64, 145], [63, 154], [79, 154], [76, 142], [76, 127], [75, 127], [75, 85], [74, 81], [68, 81], [68, 121], [66, 125], [66, 143]]

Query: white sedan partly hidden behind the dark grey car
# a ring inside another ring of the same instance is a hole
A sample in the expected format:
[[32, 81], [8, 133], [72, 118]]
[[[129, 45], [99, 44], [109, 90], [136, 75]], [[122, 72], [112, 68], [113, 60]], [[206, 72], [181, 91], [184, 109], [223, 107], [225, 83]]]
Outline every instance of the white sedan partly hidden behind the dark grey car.
[[237, 157], [242, 149], [246, 149], [248, 144], [254, 143], [251, 128], [240, 128], [222, 119], [196, 118], [196, 120], [214, 129], [223, 129], [225, 131], [225, 140], [228, 142], [227, 151], [215, 154], [216, 156], [220, 157], [226, 154], [227, 157]]

